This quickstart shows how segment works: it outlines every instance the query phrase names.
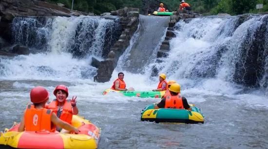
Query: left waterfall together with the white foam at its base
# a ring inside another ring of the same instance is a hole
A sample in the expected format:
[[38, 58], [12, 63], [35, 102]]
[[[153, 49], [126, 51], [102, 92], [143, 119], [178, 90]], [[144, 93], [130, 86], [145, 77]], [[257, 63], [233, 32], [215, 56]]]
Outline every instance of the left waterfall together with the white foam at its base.
[[68, 81], [96, 75], [91, 57], [102, 59], [103, 49], [112, 46], [120, 25], [100, 17], [16, 17], [12, 31], [15, 44], [36, 54], [2, 58], [1, 79]]

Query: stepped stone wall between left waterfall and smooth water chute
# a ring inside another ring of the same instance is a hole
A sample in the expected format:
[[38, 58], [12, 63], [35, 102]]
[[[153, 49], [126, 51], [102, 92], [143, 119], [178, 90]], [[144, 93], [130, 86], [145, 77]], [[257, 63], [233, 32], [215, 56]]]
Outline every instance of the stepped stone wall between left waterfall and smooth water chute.
[[97, 75], [94, 77], [96, 82], [108, 82], [117, 65], [119, 57], [127, 49], [130, 44], [130, 39], [136, 31], [139, 24], [139, 9], [138, 8], [123, 8], [112, 11], [111, 15], [120, 17], [120, 24], [123, 32], [120, 38], [115, 42], [113, 48], [108, 53], [108, 57], [100, 62]]

